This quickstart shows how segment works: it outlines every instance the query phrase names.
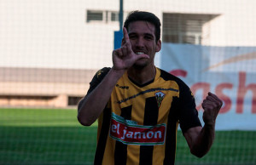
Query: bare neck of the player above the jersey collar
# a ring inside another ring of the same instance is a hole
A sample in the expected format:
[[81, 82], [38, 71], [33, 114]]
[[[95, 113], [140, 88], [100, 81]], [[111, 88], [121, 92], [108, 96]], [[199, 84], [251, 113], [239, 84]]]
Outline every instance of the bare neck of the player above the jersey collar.
[[153, 80], [155, 77], [155, 72], [154, 65], [148, 65], [144, 68], [131, 67], [127, 71], [128, 77], [138, 84], [148, 83], [149, 81]]

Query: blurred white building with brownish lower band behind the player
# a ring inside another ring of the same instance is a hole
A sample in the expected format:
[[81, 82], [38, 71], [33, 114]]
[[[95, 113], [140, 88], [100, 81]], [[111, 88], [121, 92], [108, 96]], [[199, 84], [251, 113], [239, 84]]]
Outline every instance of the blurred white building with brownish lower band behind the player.
[[[255, 6], [124, 0], [125, 16], [145, 10], [160, 18], [164, 43], [209, 46], [255, 46]], [[95, 71], [112, 66], [118, 12], [119, 0], [0, 0], [0, 105], [74, 105]]]

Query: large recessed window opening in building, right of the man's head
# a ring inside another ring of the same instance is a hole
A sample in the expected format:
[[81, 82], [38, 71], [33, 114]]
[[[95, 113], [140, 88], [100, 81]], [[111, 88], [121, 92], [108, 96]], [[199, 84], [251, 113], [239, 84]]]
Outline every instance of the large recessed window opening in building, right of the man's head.
[[216, 14], [163, 14], [163, 42], [201, 44], [202, 28]]

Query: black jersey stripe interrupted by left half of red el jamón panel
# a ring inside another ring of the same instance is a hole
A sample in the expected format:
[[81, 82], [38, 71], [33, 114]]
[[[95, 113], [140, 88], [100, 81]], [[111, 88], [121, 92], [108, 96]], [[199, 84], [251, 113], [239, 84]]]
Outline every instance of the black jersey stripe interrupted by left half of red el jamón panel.
[[[124, 117], [126, 120], [131, 120], [131, 107], [127, 106], [121, 109], [121, 117]], [[114, 164], [122, 165], [126, 164], [127, 160], [127, 145], [116, 141], [114, 149]]]

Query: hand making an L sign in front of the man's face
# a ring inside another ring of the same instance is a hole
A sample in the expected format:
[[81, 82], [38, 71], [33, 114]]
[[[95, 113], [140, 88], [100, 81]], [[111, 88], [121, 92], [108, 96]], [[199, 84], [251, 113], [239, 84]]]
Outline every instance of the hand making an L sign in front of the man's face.
[[125, 71], [129, 69], [139, 59], [149, 59], [147, 54], [135, 54], [131, 48], [131, 42], [126, 28], [123, 28], [124, 38], [121, 48], [113, 50], [113, 69]]

